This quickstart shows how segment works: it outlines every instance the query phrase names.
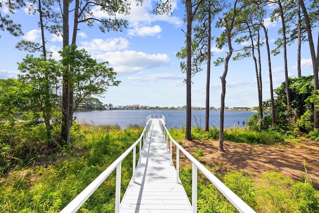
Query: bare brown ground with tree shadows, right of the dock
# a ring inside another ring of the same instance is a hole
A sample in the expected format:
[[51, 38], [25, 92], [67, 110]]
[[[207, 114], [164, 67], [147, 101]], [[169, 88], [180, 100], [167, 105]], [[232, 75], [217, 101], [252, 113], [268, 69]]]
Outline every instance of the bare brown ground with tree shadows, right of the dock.
[[194, 148], [202, 149], [205, 156], [201, 159], [206, 164], [224, 163], [235, 171], [252, 172], [256, 178], [265, 171], [276, 171], [289, 176], [295, 181], [304, 181], [306, 172], [314, 187], [319, 190], [319, 143], [285, 145], [252, 145], [224, 142], [225, 152], [219, 152], [218, 141], [187, 141], [184, 148], [192, 153]]

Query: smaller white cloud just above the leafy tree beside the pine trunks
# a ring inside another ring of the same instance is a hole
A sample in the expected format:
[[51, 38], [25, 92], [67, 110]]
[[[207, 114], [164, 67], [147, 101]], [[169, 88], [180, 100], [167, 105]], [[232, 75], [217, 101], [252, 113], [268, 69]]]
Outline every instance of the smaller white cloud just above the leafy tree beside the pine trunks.
[[82, 41], [79, 49], [85, 49], [90, 54], [101, 54], [107, 51], [115, 51], [120, 49], [125, 49], [129, 45], [129, 41], [126, 38], [109, 38], [103, 39], [93, 39], [92, 41]]

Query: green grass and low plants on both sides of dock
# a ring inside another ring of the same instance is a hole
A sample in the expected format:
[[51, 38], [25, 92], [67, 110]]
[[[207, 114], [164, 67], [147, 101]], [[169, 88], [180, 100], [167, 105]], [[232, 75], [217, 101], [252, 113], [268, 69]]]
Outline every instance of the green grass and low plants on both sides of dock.
[[[74, 125], [71, 147], [18, 166], [0, 180], [0, 212], [57, 213], [114, 160], [132, 145], [143, 131], [131, 126], [125, 130], [114, 126]], [[171, 129], [174, 139], [184, 138], [184, 130]], [[218, 129], [192, 129], [196, 140], [218, 139]], [[231, 128], [225, 140], [273, 146], [285, 135]], [[139, 149], [137, 149], [139, 150]], [[201, 157], [200, 150], [194, 152]], [[193, 153], [193, 155], [194, 155]], [[204, 154], [204, 153], [202, 153]], [[256, 181], [254, 174], [233, 171], [223, 164], [211, 164], [210, 171], [222, 180], [258, 213], [319, 212], [319, 193], [310, 180], [295, 182], [280, 173], [267, 172]], [[224, 172], [220, 172], [223, 170]], [[132, 156], [122, 164], [122, 196], [132, 176]], [[199, 175], [200, 176], [200, 175]], [[191, 195], [191, 170], [180, 171], [186, 193]], [[190, 198], [191, 199], [191, 198]], [[113, 213], [115, 207], [115, 173], [113, 173], [78, 211], [81, 213]], [[236, 210], [204, 177], [198, 180], [199, 213], [233, 213]]]

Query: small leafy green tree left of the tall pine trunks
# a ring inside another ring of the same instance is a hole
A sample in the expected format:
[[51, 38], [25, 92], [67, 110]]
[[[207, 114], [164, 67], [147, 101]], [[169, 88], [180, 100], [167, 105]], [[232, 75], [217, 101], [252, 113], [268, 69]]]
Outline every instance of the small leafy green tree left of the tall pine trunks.
[[58, 94], [60, 88], [59, 79], [61, 78], [62, 66], [54, 59], [34, 58], [27, 55], [18, 69], [23, 73], [18, 76], [20, 82], [26, 82], [29, 87], [28, 103], [24, 105], [24, 111], [28, 112], [28, 120], [44, 121], [46, 134], [56, 145], [57, 142], [52, 137], [51, 123], [59, 122], [57, 110]]

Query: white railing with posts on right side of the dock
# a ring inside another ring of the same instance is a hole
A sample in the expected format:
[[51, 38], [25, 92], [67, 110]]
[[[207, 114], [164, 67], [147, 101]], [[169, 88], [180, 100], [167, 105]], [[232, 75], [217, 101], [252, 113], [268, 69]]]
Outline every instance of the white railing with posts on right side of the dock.
[[233, 193], [226, 185], [224, 185], [218, 178], [216, 178], [208, 169], [199, 163], [193, 156], [184, 150], [172, 137], [170, 136], [165, 121], [160, 119], [163, 137], [166, 143], [169, 138], [170, 157], [172, 159], [172, 144], [176, 146], [176, 182], [179, 183], [179, 151], [181, 151], [192, 162], [192, 211], [197, 213], [197, 169], [200, 170], [206, 178], [226, 197], [226, 199], [240, 212], [240, 213], [255, 213], [243, 200], [241, 200], [235, 193]]

